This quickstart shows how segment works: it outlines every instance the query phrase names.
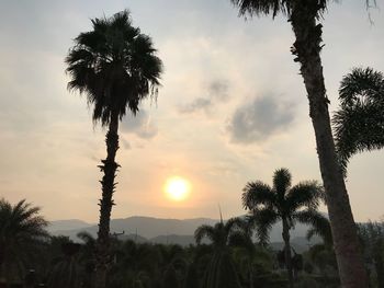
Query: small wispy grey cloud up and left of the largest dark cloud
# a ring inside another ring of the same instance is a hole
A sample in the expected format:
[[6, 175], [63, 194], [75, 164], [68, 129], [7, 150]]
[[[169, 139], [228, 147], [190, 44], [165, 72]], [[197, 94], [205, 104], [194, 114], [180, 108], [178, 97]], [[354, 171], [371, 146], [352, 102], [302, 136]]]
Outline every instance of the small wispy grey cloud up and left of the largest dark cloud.
[[211, 113], [211, 108], [219, 103], [227, 102], [229, 99], [228, 83], [225, 80], [214, 80], [208, 83], [205, 90], [206, 95], [197, 97], [194, 101], [180, 106], [179, 112], [182, 114], [190, 114], [203, 111], [206, 114]]

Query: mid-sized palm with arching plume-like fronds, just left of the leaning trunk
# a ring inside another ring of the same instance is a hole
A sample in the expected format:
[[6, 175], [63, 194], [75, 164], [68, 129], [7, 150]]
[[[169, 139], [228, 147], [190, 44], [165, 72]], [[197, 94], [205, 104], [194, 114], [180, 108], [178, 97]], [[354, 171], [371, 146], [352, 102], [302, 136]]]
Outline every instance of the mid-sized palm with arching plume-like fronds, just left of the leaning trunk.
[[287, 169], [279, 169], [273, 174], [272, 187], [261, 181], [249, 182], [244, 188], [242, 205], [251, 212], [261, 243], [269, 240], [272, 226], [282, 221], [285, 265], [290, 287], [293, 287], [290, 230], [296, 222], [324, 229], [328, 221], [316, 210], [323, 194], [321, 186], [316, 181], [301, 182], [291, 186], [291, 180]]

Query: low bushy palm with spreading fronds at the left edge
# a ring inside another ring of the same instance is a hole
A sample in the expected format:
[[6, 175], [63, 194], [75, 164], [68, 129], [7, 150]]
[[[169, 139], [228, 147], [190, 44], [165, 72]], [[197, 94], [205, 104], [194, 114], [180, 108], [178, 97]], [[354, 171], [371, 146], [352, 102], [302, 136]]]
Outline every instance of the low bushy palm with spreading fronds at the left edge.
[[25, 199], [13, 206], [0, 199], [0, 278], [21, 279], [37, 258], [48, 238], [47, 221]]

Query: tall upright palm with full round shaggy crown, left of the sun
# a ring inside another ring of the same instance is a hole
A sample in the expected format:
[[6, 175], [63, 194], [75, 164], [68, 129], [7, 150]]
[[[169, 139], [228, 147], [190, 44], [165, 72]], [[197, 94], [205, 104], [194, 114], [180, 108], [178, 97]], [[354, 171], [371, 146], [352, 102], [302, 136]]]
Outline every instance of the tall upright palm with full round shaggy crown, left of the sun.
[[66, 58], [71, 80], [69, 90], [86, 94], [93, 106], [93, 122], [108, 127], [106, 159], [99, 165], [101, 181], [100, 220], [97, 247], [97, 287], [105, 287], [110, 262], [110, 218], [114, 205], [114, 178], [118, 164], [118, 122], [139, 111], [142, 100], [154, 96], [162, 71], [161, 60], [149, 36], [134, 27], [128, 11], [92, 20], [93, 30], [75, 38]]

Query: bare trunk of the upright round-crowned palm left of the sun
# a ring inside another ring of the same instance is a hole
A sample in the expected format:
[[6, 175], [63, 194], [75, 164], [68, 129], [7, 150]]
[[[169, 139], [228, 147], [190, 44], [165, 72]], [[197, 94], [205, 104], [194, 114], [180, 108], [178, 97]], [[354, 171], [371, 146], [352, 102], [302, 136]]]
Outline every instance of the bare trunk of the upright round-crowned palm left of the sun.
[[118, 164], [115, 162], [116, 151], [118, 149], [118, 114], [112, 113], [109, 131], [106, 133], [106, 159], [99, 165], [104, 172], [101, 181], [102, 198], [100, 199], [100, 219], [97, 241], [95, 255], [95, 288], [105, 288], [108, 266], [111, 262], [110, 255], [110, 220], [111, 210], [114, 205], [112, 195], [116, 183], [114, 183], [115, 173]]

